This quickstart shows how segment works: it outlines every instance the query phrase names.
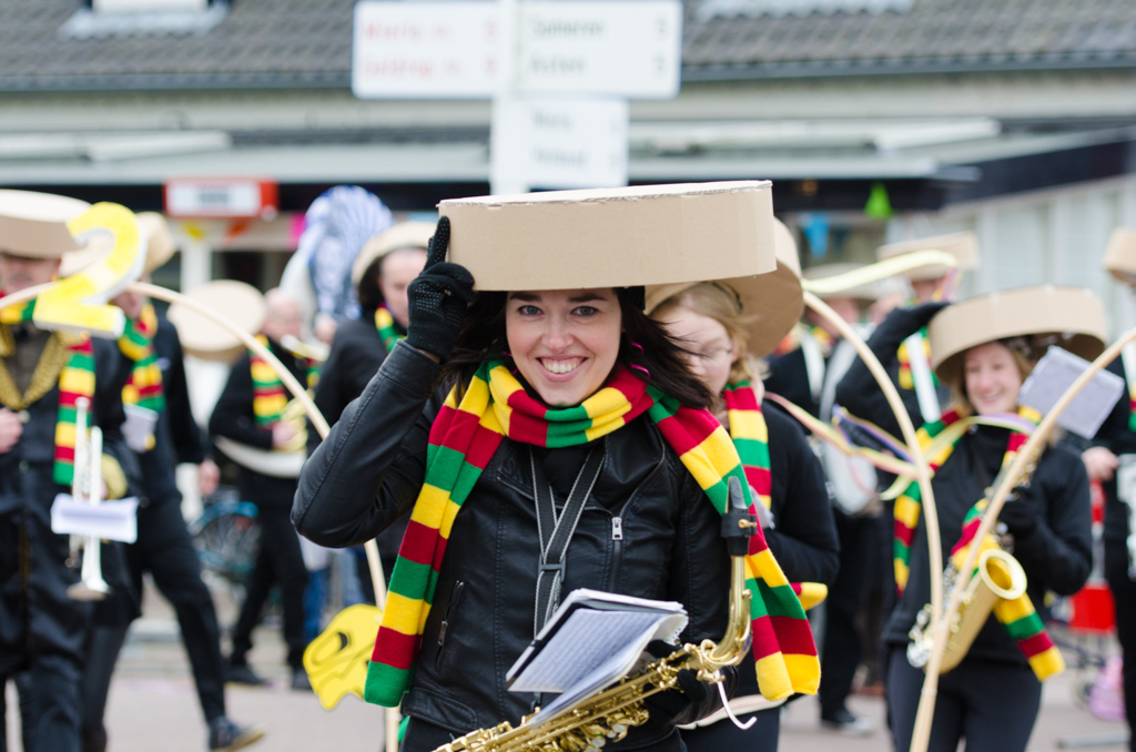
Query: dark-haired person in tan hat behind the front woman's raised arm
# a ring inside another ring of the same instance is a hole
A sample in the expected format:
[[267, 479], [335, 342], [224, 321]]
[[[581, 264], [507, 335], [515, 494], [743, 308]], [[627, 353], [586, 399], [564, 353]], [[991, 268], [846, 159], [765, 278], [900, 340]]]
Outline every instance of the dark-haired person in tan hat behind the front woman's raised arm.
[[[394, 344], [407, 336], [407, 287], [426, 264], [426, 245], [433, 232], [434, 225], [429, 223], [404, 222], [370, 239], [359, 251], [351, 276], [362, 314], [336, 329], [316, 387], [316, 407], [328, 424], [339, 420], [343, 408], [362, 394]], [[309, 449], [315, 451], [318, 444], [319, 434], [309, 429]], [[404, 529], [406, 520], [378, 536], [378, 551], [387, 577]], [[359, 557], [357, 561], [364, 592], [374, 602], [366, 559]]]

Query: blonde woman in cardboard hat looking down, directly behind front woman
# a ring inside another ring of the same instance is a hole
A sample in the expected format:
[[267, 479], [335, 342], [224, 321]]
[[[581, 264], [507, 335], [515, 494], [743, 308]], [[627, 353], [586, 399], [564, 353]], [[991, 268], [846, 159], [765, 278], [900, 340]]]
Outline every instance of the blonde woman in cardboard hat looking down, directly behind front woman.
[[[766, 540], [785, 576], [804, 594], [824, 592], [836, 577], [837, 542], [820, 462], [800, 425], [762, 403], [762, 358], [796, 324], [804, 307], [796, 243], [776, 222], [777, 270], [736, 279], [648, 287], [646, 310], [683, 343], [691, 367], [719, 395], [715, 415], [734, 438], [751, 487], [770, 515]], [[715, 713], [683, 730], [692, 752], [776, 750], [780, 709], [760, 694], [757, 675], [743, 661], [730, 701], [749, 730]]]

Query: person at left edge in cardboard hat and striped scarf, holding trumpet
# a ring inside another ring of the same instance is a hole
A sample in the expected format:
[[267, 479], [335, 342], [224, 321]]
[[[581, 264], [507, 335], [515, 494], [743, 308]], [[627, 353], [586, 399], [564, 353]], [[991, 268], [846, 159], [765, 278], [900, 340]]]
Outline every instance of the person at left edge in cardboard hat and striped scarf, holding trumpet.
[[[0, 191], [0, 292], [51, 282], [62, 254], [78, 249], [66, 223], [87, 208], [58, 195]], [[0, 747], [7, 738], [2, 687], [22, 672], [25, 751], [80, 752], [93, 607], [68, 596], [80, 578], [68, 536], [51, 532], [56, 494], [70, 493], [76, 400], [90, 401], [91, 425], [102, 429], [105, 498], [125, 496], [139, 473], [120, 431], [117, 348], [41, 329], [34, 310], [35, 301], [0, 310]], [[132, 608], [128, 578], [108, 555], [118, 546], [102, 551], [103, 578]]]

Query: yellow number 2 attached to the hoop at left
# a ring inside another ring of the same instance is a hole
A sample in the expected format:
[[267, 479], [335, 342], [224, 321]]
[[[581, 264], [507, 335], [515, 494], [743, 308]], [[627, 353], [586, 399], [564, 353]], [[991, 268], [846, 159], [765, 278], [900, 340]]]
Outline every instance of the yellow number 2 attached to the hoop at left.
[[122, 309], [108, 306], [111, 298], [142, 276], [145, 265], [145, 235], [126, 207], [97, 203], [67, 223], [75, 240], [109, 234], [110, 253], [78, 274], [61, 279], [40, 295], [33, 320], [45, 329], [83, 331], [116, 339], [126, 318]]

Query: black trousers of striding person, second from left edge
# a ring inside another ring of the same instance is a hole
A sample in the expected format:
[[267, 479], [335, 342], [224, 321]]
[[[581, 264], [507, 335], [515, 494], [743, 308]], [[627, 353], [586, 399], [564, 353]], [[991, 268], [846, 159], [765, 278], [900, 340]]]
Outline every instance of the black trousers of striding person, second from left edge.
[[[225, 674], [220, 628], [212, 595], [201, 579], [201, 565], [182, 517], [181, 500], [169, 496], [140, 507], [137, 542], [127, 546], [126, 561], [139, 593], [142, 575], [153, 577], [158, 591], [174, 607], [182, 642], [193, 669], [198, 700], [206, 721], [225, 715]], [[91, 638], [83, 676], [83, 735], [87, 752], [106, 746], [102, 718], [110, 677], [128, 625], [98, 625]]]

